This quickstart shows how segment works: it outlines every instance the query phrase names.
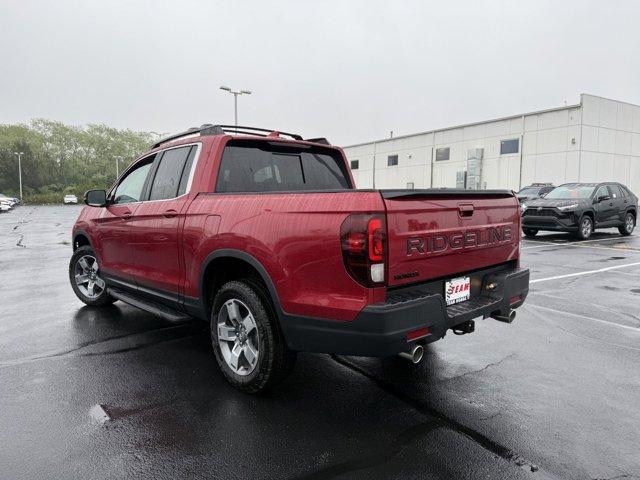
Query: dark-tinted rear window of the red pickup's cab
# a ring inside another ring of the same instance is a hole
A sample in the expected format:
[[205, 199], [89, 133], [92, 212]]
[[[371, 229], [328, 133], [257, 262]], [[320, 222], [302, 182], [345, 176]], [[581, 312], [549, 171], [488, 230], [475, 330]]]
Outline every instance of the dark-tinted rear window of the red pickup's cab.
[[349, 177], [338, 152], [270, 142], [229, 142], [216, 192], [346, 190]]

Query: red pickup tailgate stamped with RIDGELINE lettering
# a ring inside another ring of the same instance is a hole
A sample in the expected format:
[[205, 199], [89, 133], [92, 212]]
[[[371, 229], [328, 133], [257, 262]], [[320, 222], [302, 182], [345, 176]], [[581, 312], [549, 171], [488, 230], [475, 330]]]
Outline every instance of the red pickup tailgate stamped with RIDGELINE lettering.
[[520, 211], [506, 190], [382, 191], [388, 284], [404, 285], [518, 258]]

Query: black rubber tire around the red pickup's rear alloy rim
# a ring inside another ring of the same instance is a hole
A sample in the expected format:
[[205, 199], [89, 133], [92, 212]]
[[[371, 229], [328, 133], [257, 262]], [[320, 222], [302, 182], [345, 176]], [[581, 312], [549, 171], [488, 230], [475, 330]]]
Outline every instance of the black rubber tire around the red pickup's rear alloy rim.
[[[289, 350], [285, 344], [278, 320], [267, 295], [260, 282], [252, 279], [243, 279], [225, 283], [213, 300], [213, 308], [211, 309], [211, 343], [213, 344], [218, 367], [231, 385], [245, 393], [258, 393], [277, 385], [293, 370], [296, 361], [296, 353]], [[234, 341], [225, 341], [219, 338], [219, 323], [224, 325], [233, 323], [227, 310], [227, 304], [233, 304], [233, 302], [237, 302], [236, 304], [240, 306], [239, 308], [247, 316], [250, 314], [254, 320], [257, 336], [249, 339], [249, 334], [242, 331], [238, 332], [237, 330], [231, 335], [236, 340], [244, 338], [245, 345], [250, 343], [253, 347], [257, 346], [255, 365], [250, 364], [248, 357], [244, 353], [245, 350], [242, 349], [243, 347], [236, 345]], [[244, 335], [244, 337], [241, 335]], [[226, 347], [224, 346], [225, 344]], [[236, 365], [243, 365], [238, 370], [234, 370], [231, 366], [232, 364], [229, 364], [228, 360], [225, 359], [225, 355], [229, 355], [229, 352], [233, 352], [236, 347], [242, 349]]]

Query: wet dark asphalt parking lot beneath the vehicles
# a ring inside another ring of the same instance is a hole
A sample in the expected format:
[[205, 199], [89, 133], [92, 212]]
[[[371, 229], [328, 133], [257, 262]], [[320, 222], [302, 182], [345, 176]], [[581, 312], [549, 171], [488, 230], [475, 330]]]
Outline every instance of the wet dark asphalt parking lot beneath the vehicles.
[[79, 211], [0, 215], [2, 479], [640, 478], [640, 235], [524, 240], [512, 325], [418, 366], [301, 354], [248, 396], [206, 325], [76, 299]]

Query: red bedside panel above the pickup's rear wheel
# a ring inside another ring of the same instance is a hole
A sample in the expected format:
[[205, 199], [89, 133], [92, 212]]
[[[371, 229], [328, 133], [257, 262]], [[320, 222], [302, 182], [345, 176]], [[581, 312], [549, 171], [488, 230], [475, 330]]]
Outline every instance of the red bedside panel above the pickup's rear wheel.
[[185, 295], [200, 297], [206, 257], [235, 249], [254, 257], [289, 314], [352, 320], [385, 289], [367, 289], [346, 272], [340, 226], [350, 213], [382, 212], [377, 192], [200, 194], [183, 230]]

